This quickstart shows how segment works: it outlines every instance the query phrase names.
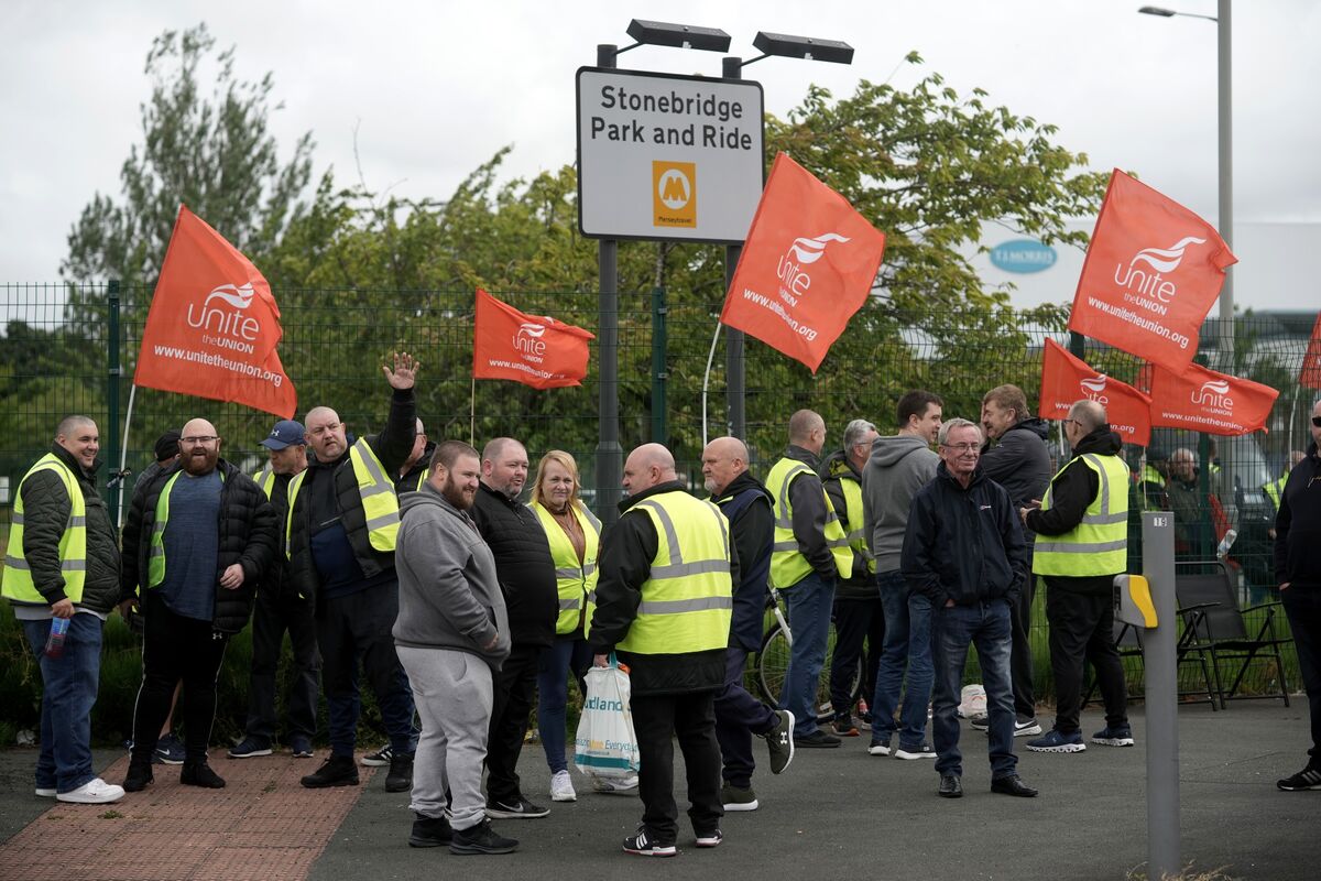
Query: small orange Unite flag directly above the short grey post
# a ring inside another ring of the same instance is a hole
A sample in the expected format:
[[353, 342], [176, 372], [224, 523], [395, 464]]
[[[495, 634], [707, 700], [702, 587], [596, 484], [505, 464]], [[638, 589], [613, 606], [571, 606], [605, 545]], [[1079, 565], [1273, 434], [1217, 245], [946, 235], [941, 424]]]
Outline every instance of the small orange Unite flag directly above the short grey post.
[[1152, 369], [1152, 425], [1207, 435], [1247, 435], [1266, 428], [1280, 392], [1251, 379], [1226, 376], [1201, 365], [1182, 372]]

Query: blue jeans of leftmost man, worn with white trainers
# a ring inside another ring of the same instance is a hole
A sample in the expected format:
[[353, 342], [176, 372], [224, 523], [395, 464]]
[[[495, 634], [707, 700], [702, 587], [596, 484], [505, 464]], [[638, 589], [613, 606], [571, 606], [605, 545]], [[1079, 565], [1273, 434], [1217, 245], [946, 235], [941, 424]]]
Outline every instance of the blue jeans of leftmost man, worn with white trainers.
[[62, 658], [46, 656], [50, 619], [24, 621], [22, 631], [41, 667], [41, 753], [37, 789], [71, 793], [91, 782], [91, 708], [100, 683], [103, 622], [94, 614], [69, 621]]

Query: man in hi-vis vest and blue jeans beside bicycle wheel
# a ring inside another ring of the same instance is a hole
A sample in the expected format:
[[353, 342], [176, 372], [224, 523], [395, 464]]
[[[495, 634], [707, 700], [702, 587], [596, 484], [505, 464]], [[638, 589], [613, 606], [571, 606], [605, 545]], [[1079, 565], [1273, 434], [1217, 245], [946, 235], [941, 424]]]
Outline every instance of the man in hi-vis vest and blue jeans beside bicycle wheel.
[[779, 705], [794, 713], [798, 746], [840, 744], [816, 724], [816, 683], [826, 664], [835, 581], [852, 575], [853, 551], [816, 474], [824, 446], [826, 423], [799, 409], [789, 419], [785, 454], [766, 474], [766, 490], [775, 499], [770, 582], [785, 597], [794, 633]]

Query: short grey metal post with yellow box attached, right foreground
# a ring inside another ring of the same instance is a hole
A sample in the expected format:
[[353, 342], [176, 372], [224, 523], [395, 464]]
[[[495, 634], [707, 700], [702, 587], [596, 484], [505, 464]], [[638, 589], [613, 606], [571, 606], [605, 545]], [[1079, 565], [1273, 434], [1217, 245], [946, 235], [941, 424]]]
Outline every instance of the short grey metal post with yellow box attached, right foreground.
[[1182, 870], [1178, 840], [1178, 630], [1174, 600], [1174, 515], [1143, 514], [1143, 575], [1156, 627], [1143, 634], [1147, 670], [1147, 877]]

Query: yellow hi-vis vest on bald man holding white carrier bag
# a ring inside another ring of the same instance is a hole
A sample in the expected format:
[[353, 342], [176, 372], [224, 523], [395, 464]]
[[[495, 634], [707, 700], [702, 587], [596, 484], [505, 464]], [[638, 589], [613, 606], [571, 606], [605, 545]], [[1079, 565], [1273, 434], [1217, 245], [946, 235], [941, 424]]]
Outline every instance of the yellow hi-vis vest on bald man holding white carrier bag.
[[733, 616], [729, 520], [711, 502], [674, 490], [631, 510], [651, 518], [657, 555], [642, 582], [642, 602], [617, 647], [639, 655], [725, 649]]

